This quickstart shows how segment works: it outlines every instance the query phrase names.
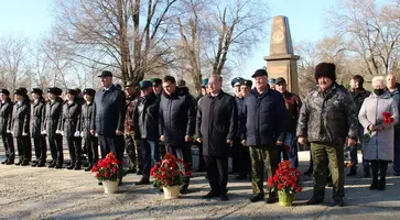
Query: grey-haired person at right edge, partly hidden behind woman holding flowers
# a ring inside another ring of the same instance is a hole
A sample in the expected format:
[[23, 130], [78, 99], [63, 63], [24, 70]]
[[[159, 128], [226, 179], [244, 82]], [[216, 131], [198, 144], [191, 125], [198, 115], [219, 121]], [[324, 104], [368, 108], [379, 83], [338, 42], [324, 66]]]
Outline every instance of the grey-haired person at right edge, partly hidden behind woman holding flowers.
[[[387, 91], [396, 101], [396, 106], [400, 109], [400, 84], [396, 81], [396, 75], [390, 73], [386, 76]], [[394, 176], [400, 176], [400, 121], [394, 124]]]

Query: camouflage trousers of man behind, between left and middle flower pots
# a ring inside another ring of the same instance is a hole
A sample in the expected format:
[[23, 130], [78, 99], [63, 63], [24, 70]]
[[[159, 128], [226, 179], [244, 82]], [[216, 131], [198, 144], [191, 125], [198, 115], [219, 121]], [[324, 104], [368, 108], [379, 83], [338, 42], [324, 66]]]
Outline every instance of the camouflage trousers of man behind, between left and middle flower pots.
[[140, 141], [134, 140], [134, 135], [132, 134], [125, 134], [125, 147], [129, 158], [129, 169], [142, 170]]

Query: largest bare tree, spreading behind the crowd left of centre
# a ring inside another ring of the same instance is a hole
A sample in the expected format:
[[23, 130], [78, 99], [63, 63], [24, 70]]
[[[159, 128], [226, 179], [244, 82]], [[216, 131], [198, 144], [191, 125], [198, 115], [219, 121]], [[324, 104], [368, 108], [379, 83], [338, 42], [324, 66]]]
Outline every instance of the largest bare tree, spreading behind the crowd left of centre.
[[118, 70], [123, 84], [172, 63], [167, 28], [176, 0], [55, 2], [58, 37], [69, 43], [74, 62]]

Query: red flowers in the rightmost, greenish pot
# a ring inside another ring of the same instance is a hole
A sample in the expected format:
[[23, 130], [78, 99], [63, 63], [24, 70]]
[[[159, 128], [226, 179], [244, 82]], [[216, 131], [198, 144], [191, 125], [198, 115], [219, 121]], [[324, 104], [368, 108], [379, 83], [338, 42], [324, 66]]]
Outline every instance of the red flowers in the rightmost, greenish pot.
[[290, 161], [279, 164], [273, 176], [268, 177], [268, 186], [273, 190], [295, 194], [302, 190], [300, 186], [300, 170], [291, 166]]

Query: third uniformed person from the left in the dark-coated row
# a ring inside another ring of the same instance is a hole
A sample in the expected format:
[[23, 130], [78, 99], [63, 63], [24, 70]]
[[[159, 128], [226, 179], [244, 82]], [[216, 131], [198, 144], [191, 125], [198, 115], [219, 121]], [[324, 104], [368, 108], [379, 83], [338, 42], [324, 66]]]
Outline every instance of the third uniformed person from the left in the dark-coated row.
[[32, 163], [32, 166], [43, 167], [47, 157], [47, 144], [46, 136], [42, 134], [42, 121], [45, 116], [46, 102], [42, 97], [42, 89], [34, 88], [31, 92], [33, 99], [33, 110], [31, 120], [31, 135], [33, 138], [34, 151], [36, 161]]

